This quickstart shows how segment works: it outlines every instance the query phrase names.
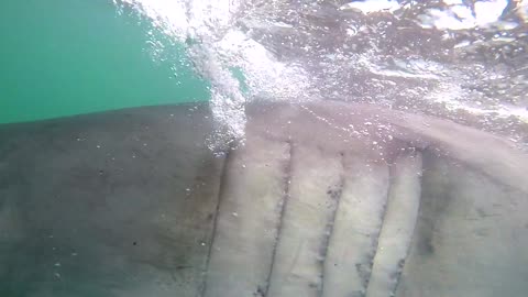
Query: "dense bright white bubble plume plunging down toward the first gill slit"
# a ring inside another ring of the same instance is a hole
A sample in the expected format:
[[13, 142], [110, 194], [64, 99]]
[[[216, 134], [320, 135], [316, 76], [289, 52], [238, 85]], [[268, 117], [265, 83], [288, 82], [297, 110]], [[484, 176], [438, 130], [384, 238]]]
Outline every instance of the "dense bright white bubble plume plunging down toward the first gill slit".
[[[256, 98], [301, 98], [308, 82], [300, 67], [285, 65], [235, 25], [244, 3], [237, 0], [120, 0], [146, 16], [161, 32], [186, 43], [199, 75], [210, 86], [210, 106], [224, 138], [243, 138], [244, 106]], [[158, 45], [156, 41], [151, 44]], [[155, 51], [163, 51], [155, 46]], [[242, 90], [233, 69], [242, 69], [249, 89]]]

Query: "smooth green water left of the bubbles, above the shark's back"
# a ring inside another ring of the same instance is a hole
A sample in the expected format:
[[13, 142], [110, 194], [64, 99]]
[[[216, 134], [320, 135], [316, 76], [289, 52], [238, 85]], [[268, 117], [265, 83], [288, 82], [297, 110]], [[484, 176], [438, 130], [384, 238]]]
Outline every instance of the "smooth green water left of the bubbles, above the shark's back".
[[0, 123], [207, 100], [183, 45], [152, 58], [150, 29], [111, 0], [4, 1]]

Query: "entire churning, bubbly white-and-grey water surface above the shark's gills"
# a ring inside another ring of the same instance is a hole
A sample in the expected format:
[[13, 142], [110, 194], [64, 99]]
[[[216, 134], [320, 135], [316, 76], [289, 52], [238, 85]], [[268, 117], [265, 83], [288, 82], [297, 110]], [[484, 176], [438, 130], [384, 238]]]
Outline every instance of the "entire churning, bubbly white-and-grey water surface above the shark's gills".
[[501, 133], [528, 125], [528, 1], [116, 1], [186, 44], [226, 138], [243, 138], [251, 100], [370, 102], [468, 123], [463, 110]]

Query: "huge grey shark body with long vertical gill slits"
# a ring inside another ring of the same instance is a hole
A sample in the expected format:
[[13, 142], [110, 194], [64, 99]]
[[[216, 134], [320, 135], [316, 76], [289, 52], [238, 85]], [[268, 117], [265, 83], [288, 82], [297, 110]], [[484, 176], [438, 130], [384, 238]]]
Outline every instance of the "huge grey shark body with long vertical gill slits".
[[528, 158], [508, 141], [373, 106], [254, 103], [245, 145], [219, 156], [211, 118], [0, 127], [0, 296], [528, 290]]

